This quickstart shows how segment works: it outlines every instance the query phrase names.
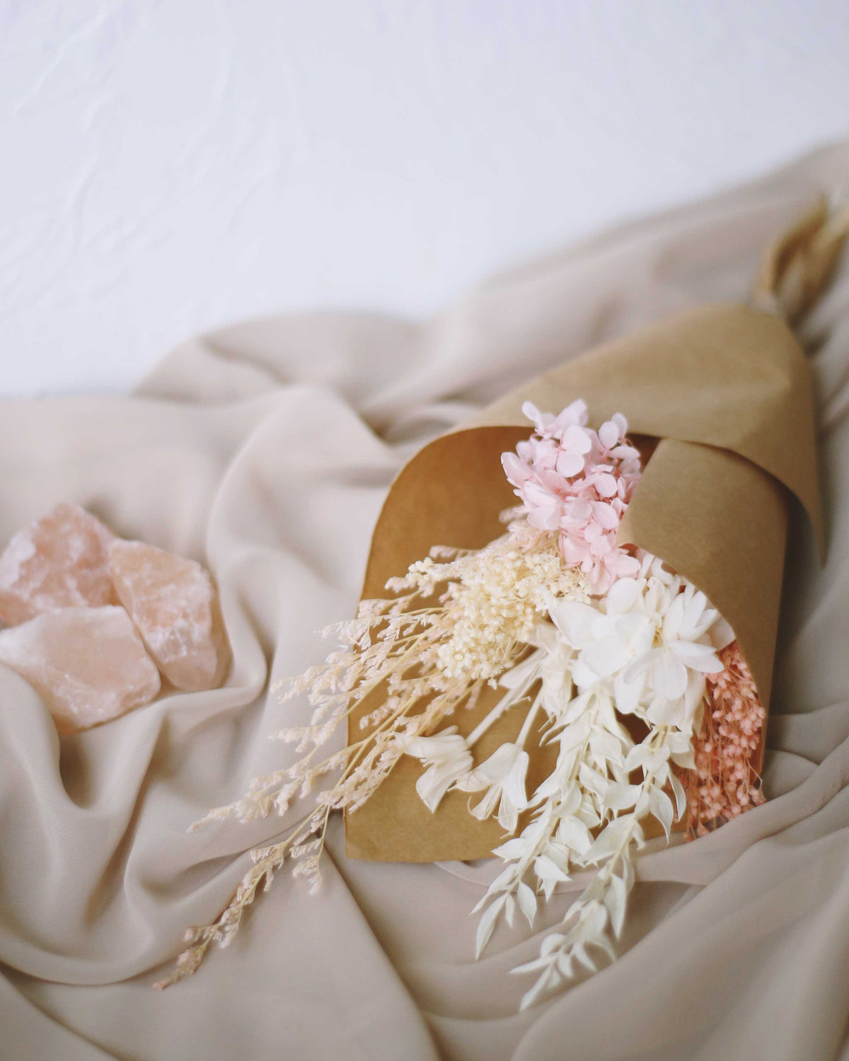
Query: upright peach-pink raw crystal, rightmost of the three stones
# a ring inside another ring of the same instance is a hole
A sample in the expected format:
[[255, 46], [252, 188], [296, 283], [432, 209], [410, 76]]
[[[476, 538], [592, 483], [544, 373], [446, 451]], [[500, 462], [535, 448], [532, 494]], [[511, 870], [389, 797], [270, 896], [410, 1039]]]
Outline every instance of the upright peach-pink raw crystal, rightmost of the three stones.
[[112, 581], [159, 669], [190, 692], [215, 689], [230, 661], [218, 593], [208, 571], [140, 541], [112, 542]]

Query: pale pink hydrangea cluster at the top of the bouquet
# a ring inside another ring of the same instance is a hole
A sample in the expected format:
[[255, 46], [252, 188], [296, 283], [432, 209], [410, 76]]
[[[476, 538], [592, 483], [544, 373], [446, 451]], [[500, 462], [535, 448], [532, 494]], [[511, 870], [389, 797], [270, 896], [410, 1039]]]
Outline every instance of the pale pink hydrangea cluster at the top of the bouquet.
[[516, 453], [502, 455], [504, 472], [527, 522], [558, 532], [564, 562], [586, 573], [592, 593], [606, 593], [617, 578], [635, 575], [640, 567], [616, 543], [640, 477], [640, 454], [625, 437], [627, 421], [617, 413], [593, 431], [581, 400], [556, 417], [532, 402], [522, 412], [536, 431]]

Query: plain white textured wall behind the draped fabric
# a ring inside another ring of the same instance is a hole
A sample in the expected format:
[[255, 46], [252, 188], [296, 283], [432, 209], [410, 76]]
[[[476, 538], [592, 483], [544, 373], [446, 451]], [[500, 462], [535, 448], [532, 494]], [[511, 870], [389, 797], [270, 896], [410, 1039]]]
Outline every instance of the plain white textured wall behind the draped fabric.
[[849, 134], [846, 0], [0, 0], [0, 394], [422, 314]]

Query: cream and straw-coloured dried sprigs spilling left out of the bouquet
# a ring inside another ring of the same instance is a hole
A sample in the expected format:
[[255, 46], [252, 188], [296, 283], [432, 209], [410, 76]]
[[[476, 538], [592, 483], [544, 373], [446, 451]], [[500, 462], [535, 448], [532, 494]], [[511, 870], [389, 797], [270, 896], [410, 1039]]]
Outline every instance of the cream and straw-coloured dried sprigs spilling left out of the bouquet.
[[[339, 639], [342, 647], [284, 683], [282, 699], [307, 694], [312, 715], [308, 726], [273, 735], [295, 744], [301, 758], [255, 779], [242, 799], [215, 807], [191, 827], [283, 816], [294, 800], [318, 788], [316, 808], [288, 837], [252, 852], [255, 865], [226, 909], [214, 923], [188, 930], [189, 946], [157, 987], [195, 972], [210, 944], [227, 945], [259, 889], [267, 890], [287, 860], [293, 874], [306, 876], [310, 890], [316, 890], [330, 812], [361, 806], [405, 752], [428, 763], [433, 741], [433, 768], [420, 779], [419, 794], [435, 806], [448, 785], [468, 771], [471, 756], [451, 758], [453, 729], [436, 738], [430, 734], [456, 711], [473, 707], [483, 683], [495, 684], [527, 651], [527, 638], [553, 601], [587, 597], [582, 573], [562, 567], [556, 536], [524, 521], [478, 552], [436, 549], [387, 589], [400, 595], [365, 601], [357, 620], [326, 628], [325, 637]], [[378, 690], [380, 705], [360, 719], [363, 736], [322, 758], [319, 749]], [[500, 712], [521, 695], [522, 689], [508, 693]]]

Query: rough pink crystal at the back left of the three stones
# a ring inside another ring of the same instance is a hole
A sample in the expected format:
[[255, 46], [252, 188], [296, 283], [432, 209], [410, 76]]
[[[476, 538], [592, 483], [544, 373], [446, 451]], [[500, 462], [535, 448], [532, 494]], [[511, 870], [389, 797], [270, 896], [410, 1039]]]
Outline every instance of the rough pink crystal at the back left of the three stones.
[[0, 619], [11, 626], [57, 608], [116, 604], [109, 577], [114, 535], [63, 502], [19, 530], [0, 556]]

